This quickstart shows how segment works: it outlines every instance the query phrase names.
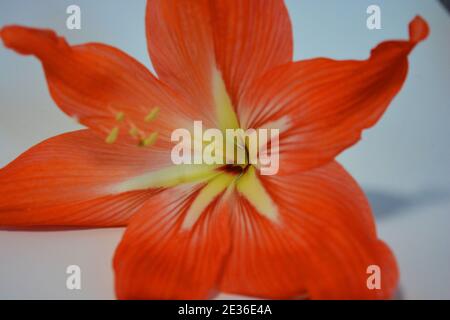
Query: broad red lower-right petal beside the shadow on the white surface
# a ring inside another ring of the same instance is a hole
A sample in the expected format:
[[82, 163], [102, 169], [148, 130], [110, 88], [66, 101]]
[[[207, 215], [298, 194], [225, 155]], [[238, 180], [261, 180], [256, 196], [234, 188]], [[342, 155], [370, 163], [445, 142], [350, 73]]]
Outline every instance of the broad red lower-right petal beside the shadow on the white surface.
[[[395, 259], [375, 234], [367, 200], [336, 163], [291, 176], [261, 176], [279, 223], [242, 196], [232, 214], [232, 247], [220, 289], [264, 298], [375, 299], [393, 296]], [[368, 266], [381, 268], [369, 290]]]

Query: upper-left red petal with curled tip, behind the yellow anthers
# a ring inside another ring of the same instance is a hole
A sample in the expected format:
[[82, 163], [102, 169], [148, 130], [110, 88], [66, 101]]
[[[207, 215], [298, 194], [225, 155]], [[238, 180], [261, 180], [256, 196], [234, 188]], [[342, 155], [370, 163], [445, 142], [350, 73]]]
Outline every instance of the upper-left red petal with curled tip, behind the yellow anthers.
[[[103, 44], [69, 46], [51, 30], [8, 26], [1, 29], [6, 47], [35, 55], [43, 64], [56, 104], [80, 123], [106, 137], [116, 126], [123, 136], [132, 127], [145, 137], [153, 131], [170, 141], [185, 104], [144, 66], [118, 49]], [[151, 126], [146, 116], [160, 108]], [[123, 113], [123, 120], [116, 118]], [[190, 119], [187, 117], [186, 119]]]

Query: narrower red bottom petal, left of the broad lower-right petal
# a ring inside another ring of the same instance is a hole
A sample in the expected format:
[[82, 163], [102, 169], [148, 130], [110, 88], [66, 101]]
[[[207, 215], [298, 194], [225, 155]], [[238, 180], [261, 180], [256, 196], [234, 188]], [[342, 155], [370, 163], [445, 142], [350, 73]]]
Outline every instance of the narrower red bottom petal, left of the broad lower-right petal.
[[118, 298], [204, 299], [214, 293], [229, 250], [229, 215], [216, 199], [183, 229], [201, 189], [165, 190], [132, 219], [114, 258]]

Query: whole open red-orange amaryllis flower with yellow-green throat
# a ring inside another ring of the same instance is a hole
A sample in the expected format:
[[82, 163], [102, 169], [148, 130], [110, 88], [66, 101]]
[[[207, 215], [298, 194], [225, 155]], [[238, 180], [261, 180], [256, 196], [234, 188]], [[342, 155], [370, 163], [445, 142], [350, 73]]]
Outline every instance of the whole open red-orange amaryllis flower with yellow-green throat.
[[[150, 0], [146, 28], [158, 77], [104, 44], [1, 29], [6, 47], [42, 62], [55, 103], [87, 129], [1, 170], [0, 225], [127, 226], [114, 257], [118, 298], [392, 297], [395, 258], [334, 159], [399, 92], [426, 22], [416, 17], [408, 40], [364, 61], [292, 61], [277, 0]], [[193, 121], [279, 129], [279, 172], [174, 165], [171, 132]], [[367, 286], [371, 265], [379, 289]]]

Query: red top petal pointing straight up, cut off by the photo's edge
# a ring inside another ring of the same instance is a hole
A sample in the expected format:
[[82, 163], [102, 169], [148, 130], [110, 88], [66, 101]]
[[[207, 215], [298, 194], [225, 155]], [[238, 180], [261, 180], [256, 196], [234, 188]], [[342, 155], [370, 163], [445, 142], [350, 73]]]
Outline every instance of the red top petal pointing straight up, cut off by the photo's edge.
[[281, 0], [150, 0], [146, 19], [159, 77], [206, 115], [216, 69], [236, 103], [254, 79], [291, 60], [291, 25]]

